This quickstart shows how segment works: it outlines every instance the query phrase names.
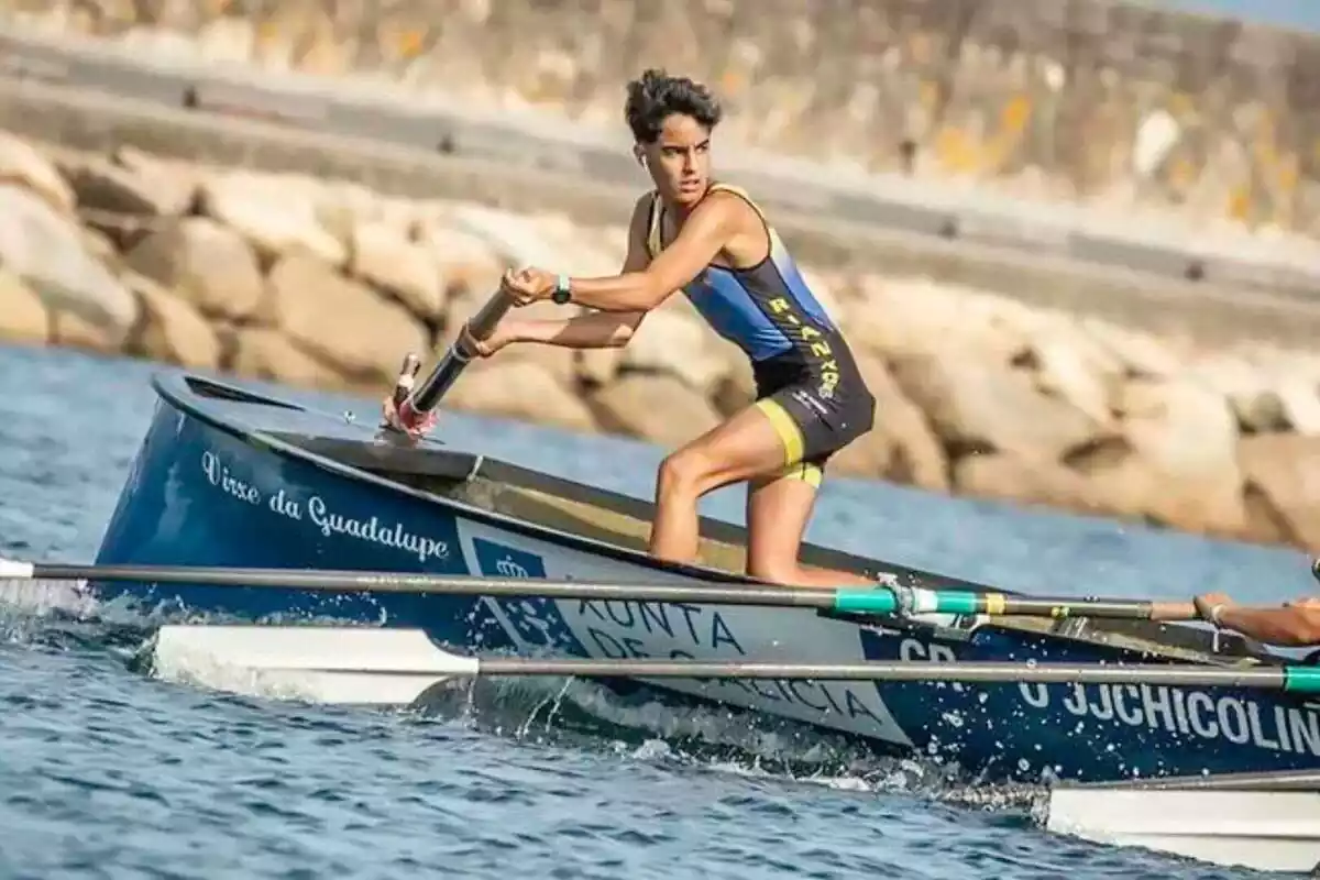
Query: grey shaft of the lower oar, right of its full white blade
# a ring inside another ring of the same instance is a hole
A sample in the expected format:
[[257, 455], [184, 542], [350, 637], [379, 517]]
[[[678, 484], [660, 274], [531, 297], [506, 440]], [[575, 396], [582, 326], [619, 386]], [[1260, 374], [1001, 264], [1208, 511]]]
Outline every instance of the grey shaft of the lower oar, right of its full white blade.
[[1257, 687], [1320, 691], [1320, 669], [1270, 666], [1218, 669], [1191, 664], [1098, 665], [869, 661], [861, 664], [755, 664], [685, 660], [543, 660], [482, 658], [482, 676], [576, 676], [581, 678], [780, 678], [814, 681], [1180, 685], [1184, 687]]

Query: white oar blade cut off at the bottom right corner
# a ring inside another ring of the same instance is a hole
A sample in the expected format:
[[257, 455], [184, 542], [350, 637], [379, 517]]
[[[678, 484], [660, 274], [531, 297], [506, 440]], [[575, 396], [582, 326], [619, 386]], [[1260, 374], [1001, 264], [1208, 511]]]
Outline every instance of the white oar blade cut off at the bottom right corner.
[[1060, 786], [1047, 829], [1222, 865], [1309, 872], [1320, 864], [1320, 792]]

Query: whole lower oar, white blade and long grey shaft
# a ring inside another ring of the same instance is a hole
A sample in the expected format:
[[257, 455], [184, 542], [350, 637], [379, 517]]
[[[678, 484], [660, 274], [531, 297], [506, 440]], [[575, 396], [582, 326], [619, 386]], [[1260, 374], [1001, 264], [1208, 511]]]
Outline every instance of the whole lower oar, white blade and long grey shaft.
[[[743, 660], [614, 660], [463, 657], [418, 629], [362, 627], [164, 627], [156, 672], [224, 690], [275, 693], [321, 702], [414, 702], [442, 679], [471, 676], [579, 676], [585, 678], [781, 678], [816, 681], [1019, 681], [1164, 683], [1320, 691], [1320, 669], [1214, 668], [1171, 664], [1038, 664], [1019, 661], [861, 661], [841, 664]], [[301, 690], [298, 690], [301, 689]], [[341, 689], [341, 690], [337, 690]], [[400, 699], [400, 694], [408, 699]]]

